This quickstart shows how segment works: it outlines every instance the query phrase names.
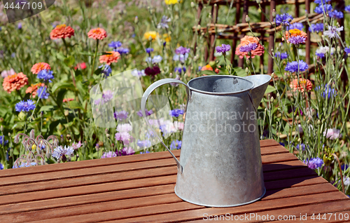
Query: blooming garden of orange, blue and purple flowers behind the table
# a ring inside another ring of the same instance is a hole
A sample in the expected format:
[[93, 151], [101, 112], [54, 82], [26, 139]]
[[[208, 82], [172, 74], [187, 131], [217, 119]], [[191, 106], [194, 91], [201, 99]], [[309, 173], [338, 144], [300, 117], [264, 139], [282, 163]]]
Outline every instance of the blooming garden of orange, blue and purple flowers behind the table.
[[[281, 26], [275, 36], [283, 42], [272, 52], [248, 32], [235, 49], [228, 40], [217, 40], [215, 60], [205, 62], [207, 34], [193, 32], [198, 6], [190, 1], [55, 1], [43, 13], [11, 24], [0, 3], [0, 168], [164, 151], [147, 135], [132, 135], [131, 112], [114, 112], [116, 128], [96, 126], [92, 86], [135, 68], [131, 74], [144, 90], [165, 78], [187, 83], [211, 74], [266, 74], [258, 58], [272, 56], [278, 78], [258, 109], [260, 138], [277, 140], [349, 195], [350, 39], [339, 38], [343, 30], [350, 32], [349, 4], [339, 11], [329, 0], [315, 0], [311, 11], [325, 16], [309, 24], [310, 36], [305, 23], [292, 24], [293, 6], [278, 6], [270, 22]], [[260, 8], [249, 11], [246, 21], [259, 22], [260, 13]], [[218, 15], [219, 22], [233, 24], [235, 8], [221, 8]], [[210, 23], [210, 7], [204, 6], [201, 17], [202, 24]], [[342, 17], [344, 27], [337, 24]], [[311, 48], [312, 74], [304, 62], [308, 38], [318, 43]], [[245, 69], [227, 60], [232, 53], [236, 60], [244, 58]], [[172, 84], [156, 93], [169, 97], [172, 117], [158, 123], [158, 133], [169, 136], [165, 144], [171, 149], [181, 149], [186, 89]], [[104, 92], [94, 103], [114, 96]]]

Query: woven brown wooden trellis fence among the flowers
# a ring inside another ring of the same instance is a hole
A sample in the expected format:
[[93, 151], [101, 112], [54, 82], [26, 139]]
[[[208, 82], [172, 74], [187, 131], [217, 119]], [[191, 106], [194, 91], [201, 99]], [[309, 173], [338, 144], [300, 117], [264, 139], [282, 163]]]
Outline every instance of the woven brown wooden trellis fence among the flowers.
[[[233, 1], [233, 3], [232, 3]], [[273, 21], [274, 18], [272, 17], [272, 11], [276, 8], [276, 5], [281, 4], [293, 4], [295, 5], [295, 18], [291, 23], [295, 22], [304, 22], [306, 27], [307, 36], [310, 36], [309, 32], [309, 25], [307, 24], [307, 19], [309, 19], [310, 23], [316, 23], [319, 21], [323, 21], [323, 15], [317, 14], [317, 13], [311, 13], [310, 12], [310, 2], [311, 0], [261, 0], [260, 6], [262, 8], [261, 13], [261, 22], [251, 22], [251, 29], [253, 32], [259, 34], [259, 38], [262, 41], [262, 44], [267, 41], [269, 43], [268, 49], [269, 52], [272, 51], [272, 48], [274, 46], [274, 27], [270, 24], [270, 22], [266, 22], [265, 14], [267, 11], [267, 6], [269, 6], [269, 20]], [[200, 33], [207, 33], [209, 34], [209, 38], [207, 39], [208, 47], [205, 51], [205, 58], [204, 60], [214, 60], [214, 51], [215, 51], [215, 41], [216, 39], [232, 39], [232, 54], [231, 54], [231, 62], [234, 62], [235, 59], [235, 48], [237, 47], [237, 40], [244, 37], [244, 35], [249, 32], [248, 23], [246, 23], [245, 18], [246, 15], [248, 15], [248, 10], [250, 7], [258, 8], [258, 4], [255, 0], [248, 1], [248, 0], [198, 0], [199, 7], [197, 10], [197, 18], [199, 19], [199, 25], [201, 23], [200, 15], [202, 12], [202, 8], [204, 5], [211, 6], [211, 24], [207, 25], [207, 27], [201, 27], [200, 29], [197, 29], [197, 27], [193, 27], [194, 32], [200, 32]], [[231, 4], [234, 5], [236, 10], [235, 15], [235, 25], [221, 25], [217, 24], [217, 18], [218, 18], [218, 8], [219, 6], [230, 6]], [[305, 5], [305, 11], [307, 12], [306, 15], [300, 16], [300, 6], [304, 4]], [[241, 8], [243, 8], [243, 13], [241, 13]], [[337, 8], [340, 10], [344, 9], [344, 0], [337, 1]], [[344, 18], [338, 20], [339, 25], [344, 25]], [[277, 29], [281, 29], [281, 27], [277, 27]], [[266, 36], [267, 35], [267, 36]], [[341, 33], [342, 39], [344, 40], [344, 32]], [[281, 39], [276, 39], [276, 41], [282, 41]], [[306, 50], [306, 62], [307, 64], [310, 64], [310, 46], [311, 46], [311, 38], [307, 38], [307, 41], [305, 43], [305, 50]], [[317, 45], [317, 43], [314, 43]], [[238, 66], [243, 67], [244, 65], [244, 59], [239, 59]], [[260, 66], [264, 65], [264, 57], [263, 55], [260, 56]], [[274, 66], [274, 60], [273, 58], [269, 57], [268, 59], [268, 66], [267, 66], [267, 73], [271, 74], [273, 72], [273, 66]]]

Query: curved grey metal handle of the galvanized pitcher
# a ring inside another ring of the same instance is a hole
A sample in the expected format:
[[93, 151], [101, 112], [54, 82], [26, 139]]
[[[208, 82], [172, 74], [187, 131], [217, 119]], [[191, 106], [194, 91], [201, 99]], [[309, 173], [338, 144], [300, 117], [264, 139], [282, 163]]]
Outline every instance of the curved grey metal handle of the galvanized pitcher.
[[[174, 154], [172, 153], [172, 151], [170, 151], [170, 149], [167, 147], [167, 145], [163, 142], [163, 140], [158, 136], [157, 133], [155, 133], [155, 130], [152, 128], [151, 126], [151, 123], [149, 123], [147, 117], [146, 117], [146, 112], [145, 112], [145, 109], [146, 109], [146, 102], [147, 102], [147, 99], [148, 97], [151, 95], [151, 93], [153, 92], [153, 90], [155, 90], [155, 88], [158, 88], [162, 85], [165, 85], [167, 83], [181, 83], [182, 85], [186, 86], [186, 91], [187, 91], [187, 102], [190, 100], [191, 98], [191, 91], [190, 91], [190, 87], [186, 84], [186, 83], [183, 83], [182, 81], [179, 81], [177, 79], [162, 79], [162, 80], [159, 80], [159, 81], [155, 81], [155, 83], [152, 83], [151, 86], [149, 86], [147, 88], [147, 90], [145, 91], [144, 95], [142, 96], [142, 99], [141, 99], [141, 112], [142, 112], [142, 116], [144, 116], [144, 119], [147, 123], [147, 125], [151, 128], [151, 130], [153, 131], [153, 133], [155, 134], [156, 137], [158, 137], [158, 139], [160, 140], [160, 142], [162, 142], [163, 146], [169, 151], [169, 153], [172, 155], [172, 157], [175, 159], [176, 161], [176, 165], [177, 165], [177, 168], [179, 168], [179, 170], [181, 170], [180, 173], [182, 173], [183, 171], [183, 168], [179, 162], [179, 160], [176, 158], [176, 156], [174, 156]], [[187, 107], [187, 106], [186, 106]]]

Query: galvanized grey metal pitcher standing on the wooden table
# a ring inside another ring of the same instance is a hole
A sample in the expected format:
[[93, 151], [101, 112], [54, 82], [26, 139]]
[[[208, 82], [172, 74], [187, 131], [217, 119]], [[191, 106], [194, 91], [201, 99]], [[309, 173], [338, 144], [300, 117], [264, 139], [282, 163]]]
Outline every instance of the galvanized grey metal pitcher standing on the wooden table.
[[145, 107], [153, 90], [166, 83], [181, 83], [187, 88], [180, 161], [158, 137], [177, 163], [175, 194], [183, 201], [232, 207], [264, 196], [256, 113], [270, 79], [264, 74], [215, 75], [192, 79], [187, 85], [162, 79], [145, 91], [141, 111], [152, 128]]

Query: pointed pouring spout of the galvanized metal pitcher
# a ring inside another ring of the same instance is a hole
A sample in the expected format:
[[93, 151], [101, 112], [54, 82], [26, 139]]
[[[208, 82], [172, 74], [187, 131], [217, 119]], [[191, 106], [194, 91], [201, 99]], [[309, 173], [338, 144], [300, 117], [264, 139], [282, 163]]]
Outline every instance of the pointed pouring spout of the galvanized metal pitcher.
[[255, 74], [251, 76], [244, 76], [244, 79], [254, 83], [254, 88], [251, 89], [251, 97], [253, 100], [253, 105], [256, 110], [258, 110], [260, 101], [264, 97], [265, 90], [269, 85], [271, 76], [267, 74]]

